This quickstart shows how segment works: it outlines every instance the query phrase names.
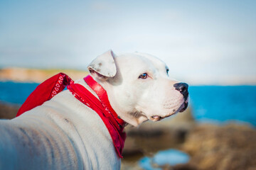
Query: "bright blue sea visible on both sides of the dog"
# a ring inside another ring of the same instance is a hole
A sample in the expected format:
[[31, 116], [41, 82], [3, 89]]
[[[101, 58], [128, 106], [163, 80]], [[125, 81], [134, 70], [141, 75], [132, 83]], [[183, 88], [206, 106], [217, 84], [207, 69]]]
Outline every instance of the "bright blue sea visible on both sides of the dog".
[[[0, 101], [22, 104], [36, 83], [0, 82]], [[189, 106], [199, 122], [235, 120], [256, 126], [256, 86], [190, 86]]]

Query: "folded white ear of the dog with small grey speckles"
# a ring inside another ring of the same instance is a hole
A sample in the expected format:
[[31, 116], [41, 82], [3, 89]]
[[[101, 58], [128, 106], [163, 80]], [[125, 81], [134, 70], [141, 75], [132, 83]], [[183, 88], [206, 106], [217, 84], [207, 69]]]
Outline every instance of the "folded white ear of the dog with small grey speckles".
[[100, 79], [114, 77], [117, 74], [117, 67], [114, 62], [114, 52], [109, 50], [93, 60], [87, 67], [92, 76]]

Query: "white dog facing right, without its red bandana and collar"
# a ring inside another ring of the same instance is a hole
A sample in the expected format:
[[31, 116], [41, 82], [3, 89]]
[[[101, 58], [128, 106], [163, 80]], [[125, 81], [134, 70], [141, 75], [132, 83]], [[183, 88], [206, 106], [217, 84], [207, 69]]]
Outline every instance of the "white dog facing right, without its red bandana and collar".
[[[151, 55], [110, 50], [88, 69], [125, 123], [161, 120], [188, 106], [188, 85], [171, 79], [166, 64]], [[100, 98], [83, 79], [75, 84]], [[120, 169], [110, 130], [78, 98], [65, 90], [13, 120], [0, 120], [0, 169]]]

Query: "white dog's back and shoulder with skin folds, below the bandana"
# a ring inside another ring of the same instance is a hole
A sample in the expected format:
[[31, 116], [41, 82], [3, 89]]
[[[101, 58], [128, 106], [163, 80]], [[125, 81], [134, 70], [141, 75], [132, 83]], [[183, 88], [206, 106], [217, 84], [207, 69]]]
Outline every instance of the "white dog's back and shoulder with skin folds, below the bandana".
[[13, 120], [0, 120], [0, 169], [119, 169], [100, 117], [63, 91]]

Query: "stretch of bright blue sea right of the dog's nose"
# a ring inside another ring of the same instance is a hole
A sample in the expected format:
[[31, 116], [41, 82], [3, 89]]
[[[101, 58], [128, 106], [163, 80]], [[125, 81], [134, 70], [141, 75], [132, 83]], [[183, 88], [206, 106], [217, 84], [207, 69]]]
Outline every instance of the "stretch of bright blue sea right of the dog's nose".
[[256, 126], [256, 86], [191, 86], [189, 93], [200, 122], [235, 120]]

